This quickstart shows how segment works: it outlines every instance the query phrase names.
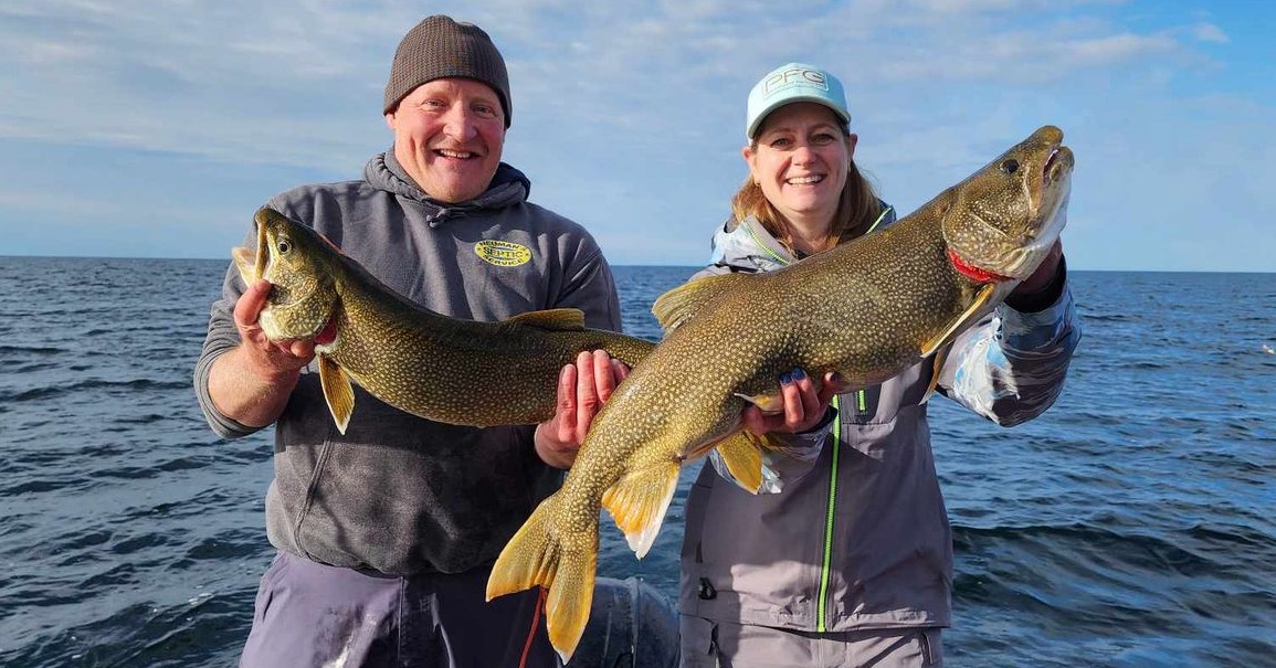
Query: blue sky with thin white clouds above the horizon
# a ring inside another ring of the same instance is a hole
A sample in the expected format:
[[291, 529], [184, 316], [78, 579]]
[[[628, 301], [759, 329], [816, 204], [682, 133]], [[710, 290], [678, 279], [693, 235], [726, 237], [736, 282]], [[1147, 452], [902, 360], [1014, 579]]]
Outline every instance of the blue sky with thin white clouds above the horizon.
[[749, 87], [798, 60], [901, 212], [1054, 124], [1071, 266], [1276, 270], [1276, 4], [1205, 0], [5, 0], [0, 255], [228, 259], [389, 145], [390, 57], [436, 11], [493, 34], [507, 162], [612, 264], [707, 260]]

